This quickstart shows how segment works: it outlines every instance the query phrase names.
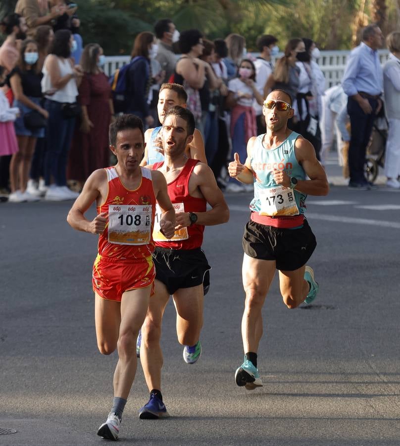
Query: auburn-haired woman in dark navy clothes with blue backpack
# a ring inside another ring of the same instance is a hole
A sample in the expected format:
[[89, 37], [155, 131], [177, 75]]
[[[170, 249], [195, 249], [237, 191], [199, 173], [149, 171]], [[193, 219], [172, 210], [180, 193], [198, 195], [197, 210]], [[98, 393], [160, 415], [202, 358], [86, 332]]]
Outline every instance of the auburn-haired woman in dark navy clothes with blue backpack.
[[125, 112], [139, 116], [147, 127], [154, 123], [148, 99], [153, 82], [150, 58], [156, 55], [154, 34], [148, 31], [138, 34], [133, 44], [132, 62], [127, 73]]

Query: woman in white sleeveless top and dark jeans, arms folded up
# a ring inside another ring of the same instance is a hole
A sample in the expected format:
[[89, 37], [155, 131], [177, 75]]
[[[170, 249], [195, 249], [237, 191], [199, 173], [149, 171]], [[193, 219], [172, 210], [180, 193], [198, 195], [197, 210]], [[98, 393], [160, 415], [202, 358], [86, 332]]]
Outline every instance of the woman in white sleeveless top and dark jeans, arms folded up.
[[71, 59], [75, 45], [71, 31], [57, 31], [43, 65], [42, 91], [46, 98], [45, 109], [49, 112], [44, 163], [48, 188], [45, 199], [50, 201], [71, 200], [78, 196], [67, 187], [66, 178], [75, 120], [80, 115], [76, 97], [83, 75], [81, 67], [74, 65]]

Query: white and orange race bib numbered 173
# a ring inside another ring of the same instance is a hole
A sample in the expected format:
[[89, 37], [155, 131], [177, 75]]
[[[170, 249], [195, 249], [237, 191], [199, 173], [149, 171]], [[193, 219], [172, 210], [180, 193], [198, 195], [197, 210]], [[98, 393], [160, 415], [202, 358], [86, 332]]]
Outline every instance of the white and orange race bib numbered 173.
[[261, 202], [259, 215], [291, 216], [299, 215], [299, 208], [295, 200], [295, 191], [290, 187], [278, 185], [259, 192]]

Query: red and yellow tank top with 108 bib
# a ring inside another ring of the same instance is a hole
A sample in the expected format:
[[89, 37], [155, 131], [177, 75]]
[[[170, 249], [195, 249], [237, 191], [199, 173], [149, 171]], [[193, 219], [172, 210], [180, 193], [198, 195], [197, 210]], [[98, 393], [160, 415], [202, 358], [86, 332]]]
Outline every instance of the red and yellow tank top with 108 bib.
[[97, 213], [107, 212], [108, 223], [99, 237], [99, 254], [121, 260], [143, 261], [154, 251], [152, 230], [155, 195], [151, 171], [141, 167], [142, 181], [135, 190], [126, 189], [115, 167], [107, 173], [108, 193]]

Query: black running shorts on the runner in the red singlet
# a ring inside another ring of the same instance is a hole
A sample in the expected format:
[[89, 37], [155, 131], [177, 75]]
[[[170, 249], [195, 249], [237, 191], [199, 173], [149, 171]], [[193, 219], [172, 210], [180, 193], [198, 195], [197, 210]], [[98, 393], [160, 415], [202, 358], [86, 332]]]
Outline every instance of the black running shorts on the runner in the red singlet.
[[156, 247], [153, 252], [155, 279], [164, 283], [169, 294], [179, 288], [203, 284], [204, 295], [210, 285], [211, 267], [201, 248], [169, 249]]

